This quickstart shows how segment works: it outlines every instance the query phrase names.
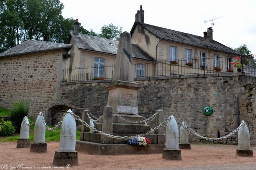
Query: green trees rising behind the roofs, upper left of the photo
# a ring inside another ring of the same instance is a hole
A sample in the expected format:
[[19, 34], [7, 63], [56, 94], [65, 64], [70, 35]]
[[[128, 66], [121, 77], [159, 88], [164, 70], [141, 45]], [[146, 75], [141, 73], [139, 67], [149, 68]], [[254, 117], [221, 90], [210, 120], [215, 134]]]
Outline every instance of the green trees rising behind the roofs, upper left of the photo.
[[[60, 0], [0, 0], [0, 53], [28, 39], [66, 43], [74, 19], [63, 18]], [[104, 25], [100, 34], [80, 26], [79, 32], [119, 40], [122, 27]]]

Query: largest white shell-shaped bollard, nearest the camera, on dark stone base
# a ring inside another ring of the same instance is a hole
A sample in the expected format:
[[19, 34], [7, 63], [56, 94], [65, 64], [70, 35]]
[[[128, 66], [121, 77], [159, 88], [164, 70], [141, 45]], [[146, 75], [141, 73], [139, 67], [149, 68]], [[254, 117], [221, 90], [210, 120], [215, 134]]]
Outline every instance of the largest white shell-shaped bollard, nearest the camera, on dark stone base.
[[[70, 109], [68, 112], [72, 112]], [[66, 113], [60, 129], [60, 149], [55, 151], [53, 164], [64, 166], [78, 165], [76, 152], [76, 121], [71, 113]]]

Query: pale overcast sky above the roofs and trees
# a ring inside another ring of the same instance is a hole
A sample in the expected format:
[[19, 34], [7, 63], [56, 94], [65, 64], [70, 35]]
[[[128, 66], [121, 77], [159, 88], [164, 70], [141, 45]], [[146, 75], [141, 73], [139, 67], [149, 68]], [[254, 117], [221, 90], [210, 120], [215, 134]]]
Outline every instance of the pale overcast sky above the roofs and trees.
[[[99, 33], [108, 23], [130, 32], [135, 14], [144, 10], [144, 23], [203, 36], [214, 20], [213, 39], [237, 48], [246, 44], [256, 55], [256, 0], [61, 0], [64, 18]], [[208, 21], [208, 22], [204, 22]]]

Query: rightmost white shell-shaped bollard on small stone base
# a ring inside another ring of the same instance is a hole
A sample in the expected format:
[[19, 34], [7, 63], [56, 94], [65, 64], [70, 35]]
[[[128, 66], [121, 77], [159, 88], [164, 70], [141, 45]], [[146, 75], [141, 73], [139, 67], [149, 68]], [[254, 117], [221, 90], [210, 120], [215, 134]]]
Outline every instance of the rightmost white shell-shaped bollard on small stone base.
[[[244, 123], [242, 121], [241, 123]], [[238, 149], [236, 150], [237, 156], [253, 156], [250, 149], [250, 132], [246, 124], [238, 130]]]

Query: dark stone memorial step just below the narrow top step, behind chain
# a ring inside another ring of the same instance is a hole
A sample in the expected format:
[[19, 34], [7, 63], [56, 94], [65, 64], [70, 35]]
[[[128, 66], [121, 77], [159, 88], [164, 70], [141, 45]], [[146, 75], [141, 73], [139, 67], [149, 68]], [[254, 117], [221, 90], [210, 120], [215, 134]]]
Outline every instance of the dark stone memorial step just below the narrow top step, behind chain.
[[[94, 127], [102, 131], [102, 123], [95, 123]], [[113, 133], [141, 134], [150, 131], [149, 125], [131, 123], [113, 123]]]

